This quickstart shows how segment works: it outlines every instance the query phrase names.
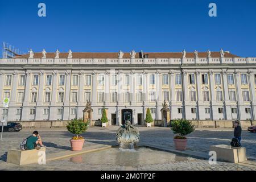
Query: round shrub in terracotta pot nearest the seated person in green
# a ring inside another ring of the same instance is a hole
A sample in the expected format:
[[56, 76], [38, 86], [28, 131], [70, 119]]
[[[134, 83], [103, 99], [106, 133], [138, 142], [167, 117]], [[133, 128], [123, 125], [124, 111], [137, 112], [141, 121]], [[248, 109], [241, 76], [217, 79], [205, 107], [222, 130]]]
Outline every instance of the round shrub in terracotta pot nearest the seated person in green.
[[87, 129], [88, 122], [84, 122], [82, 119], [73, 119], [71, 122], [68, 122], [67, 130], [72, 134], [76, 134], [76, 136], [70, 140], [73, 151], [82, 150], [82, 146], [84, 146], [84, 137], [79, 135], [84, 133]]

